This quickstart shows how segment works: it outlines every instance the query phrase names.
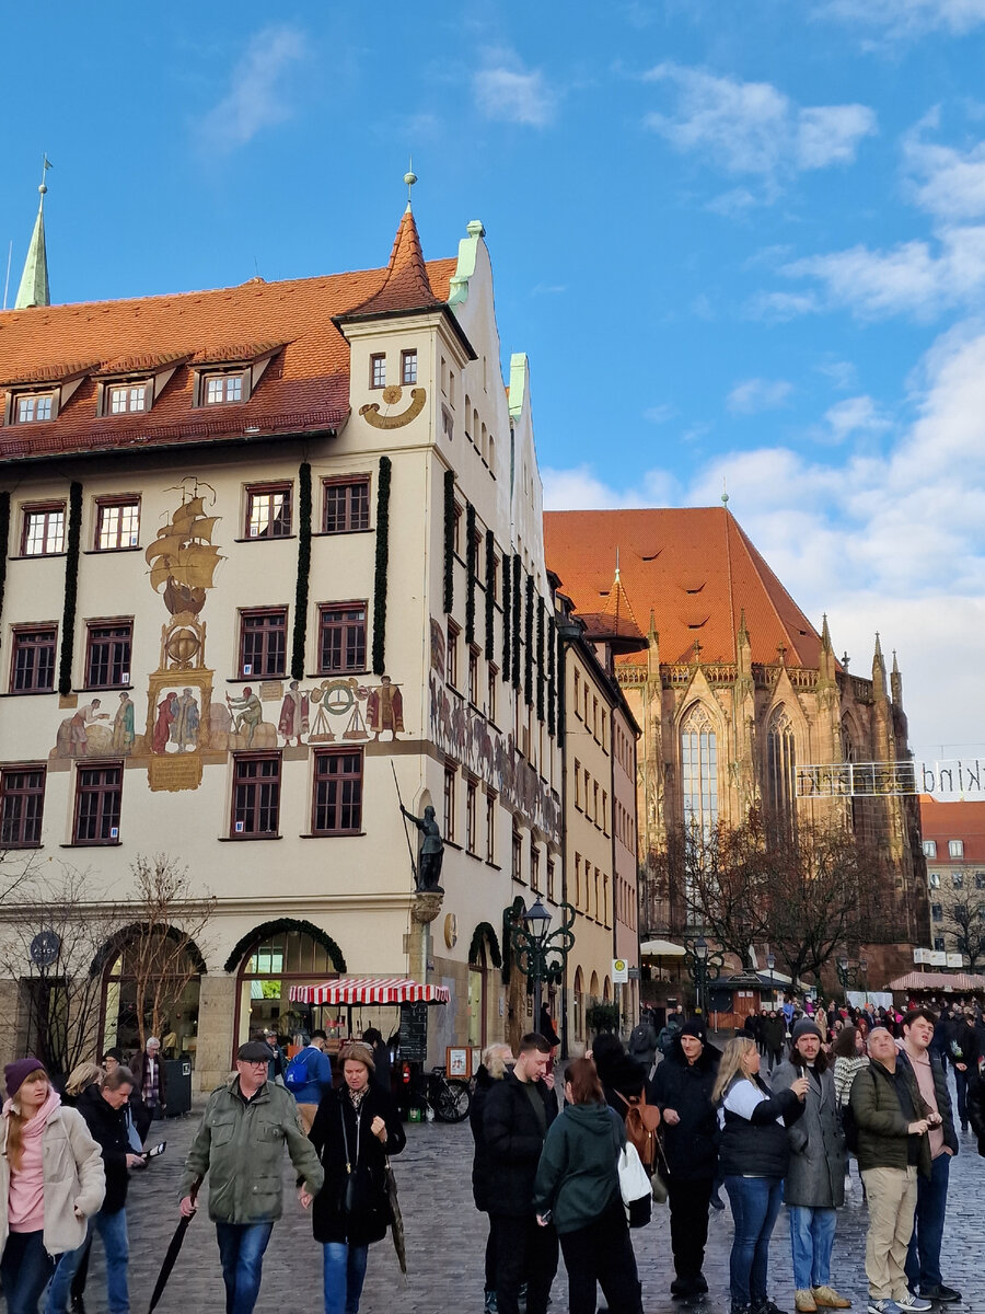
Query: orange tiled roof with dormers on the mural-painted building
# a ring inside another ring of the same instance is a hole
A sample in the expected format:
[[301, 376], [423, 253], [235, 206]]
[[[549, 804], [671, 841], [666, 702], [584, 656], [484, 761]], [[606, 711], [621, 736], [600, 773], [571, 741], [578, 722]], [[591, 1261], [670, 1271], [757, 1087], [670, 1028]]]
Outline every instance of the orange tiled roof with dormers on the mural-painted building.
[[[150, 373], [180, 361], [146, 414], [97, 415], [97, 384], [85, 377], [56, 419], [0, 428], [0, 459], [209, 442], [247, 428], [273, 435], [335, 428], [348, 414], [349, 348], [332, 318], [365, 307], [387, 288], [380, 309], [418, 307], [422, 280], [429, 304], [448, 298], [456, 261], [422, 259], [418, 267], [407, 254], [412, 226], [405, 215], [386, 269], [0, 313], [0, 380], [8, 384], [110, 369]], [[247, 402], [192, 407], [193, 359], [247, 360], [281, 344]], [[84, 365], [67, 364], [79, 361]], [[4, 402], [0, 396], [0, 407]]]

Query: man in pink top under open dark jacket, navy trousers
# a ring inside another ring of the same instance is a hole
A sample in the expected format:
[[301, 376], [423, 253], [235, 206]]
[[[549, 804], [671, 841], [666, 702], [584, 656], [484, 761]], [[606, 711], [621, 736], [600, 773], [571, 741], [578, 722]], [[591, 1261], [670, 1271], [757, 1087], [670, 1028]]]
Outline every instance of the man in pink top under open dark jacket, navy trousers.
[[960, 1301], [961, 1293], [947, 1286], [940, 1276], [940, 1243], [944, 1236], [951, 1158], [957, 1154], [957, 1133], [947, 1076], [930, 1050], [935, 1025], [936, 1017], [929, 1008], [909, 1012], [902, 1021], [904, 1042], [898, 1054], [898, 1062], [917, 1077], [921, 1096], [940, 1117], [940, 1122], [927, 1133], [930, 1177], [917, 1180], [917, 1214], [906, 1255], [906, 1281], [911, 1292], [919, 1290], [927, 1301], [952, 1303]]

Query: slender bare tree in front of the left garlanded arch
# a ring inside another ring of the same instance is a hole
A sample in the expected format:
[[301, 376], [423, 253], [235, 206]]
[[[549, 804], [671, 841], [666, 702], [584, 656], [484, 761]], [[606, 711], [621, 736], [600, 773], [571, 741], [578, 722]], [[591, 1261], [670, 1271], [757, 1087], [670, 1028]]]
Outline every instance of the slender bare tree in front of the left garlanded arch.
[[165, 853], [139, 855], [130, 870], [134, 897], [126, 909], [133, 921], [117, 940], [135, 986], [143, 1049], [147, 1035], [160, 1035], [163, 1022], [202, 970], [202, 936], [215, 912], [215, 896], [198, 894], [188, 867]]

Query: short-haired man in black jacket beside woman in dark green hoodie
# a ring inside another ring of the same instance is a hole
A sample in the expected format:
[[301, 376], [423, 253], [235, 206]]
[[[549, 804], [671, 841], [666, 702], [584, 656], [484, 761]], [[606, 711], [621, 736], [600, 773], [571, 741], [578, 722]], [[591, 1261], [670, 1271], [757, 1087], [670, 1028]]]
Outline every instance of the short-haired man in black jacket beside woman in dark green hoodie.
[[550, 1043], [531, 1031], [520, 1056], [486, 1096], [482, 1133], [489, 1163], [489, 1210], [496, 1231], [499, 1314], [519, 1314], [527, 1282], [527, 1314], [546, 1314], [557, 1272], [557, 1233], [541, 1227], [533, 1210], [533, 1183], [544, 1138], [557, 1117], [557, 1097], [544, 1080]]

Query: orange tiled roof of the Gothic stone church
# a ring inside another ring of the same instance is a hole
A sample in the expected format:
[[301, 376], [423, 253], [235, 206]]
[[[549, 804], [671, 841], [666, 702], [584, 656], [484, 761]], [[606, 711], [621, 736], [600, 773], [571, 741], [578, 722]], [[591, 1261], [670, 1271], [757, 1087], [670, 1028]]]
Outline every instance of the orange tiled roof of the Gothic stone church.
[[605, 633], [607, 623], [611, 629], [605, 599], [619, 549], [620, 637], [628, 637], [626, 606], [647, 625], [653, 608], [661, 661], [693, 661], [697, 640], [701, 661], [734, 662], [745, 608], [753, 661], [777, 661], [783, 645], [788, 666], [818, 666], [821, 636], [725, 507], [548, 511], [544, 537], [548, 566], [565, 581], [590, 633]]

